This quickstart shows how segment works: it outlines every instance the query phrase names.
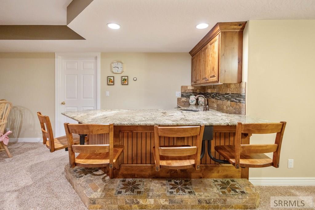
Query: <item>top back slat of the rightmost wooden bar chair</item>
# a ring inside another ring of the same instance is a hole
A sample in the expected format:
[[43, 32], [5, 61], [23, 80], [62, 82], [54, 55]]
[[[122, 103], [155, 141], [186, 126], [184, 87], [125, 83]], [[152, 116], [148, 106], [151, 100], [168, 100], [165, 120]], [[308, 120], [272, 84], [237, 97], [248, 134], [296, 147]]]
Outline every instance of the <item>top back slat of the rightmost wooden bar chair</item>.
[[243, 123], [242, 133], [278, 133], [281, 131], [282, 125], [282, 123]]

